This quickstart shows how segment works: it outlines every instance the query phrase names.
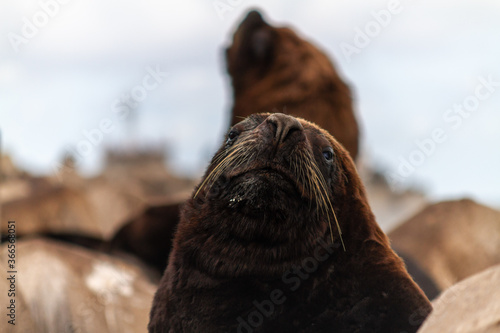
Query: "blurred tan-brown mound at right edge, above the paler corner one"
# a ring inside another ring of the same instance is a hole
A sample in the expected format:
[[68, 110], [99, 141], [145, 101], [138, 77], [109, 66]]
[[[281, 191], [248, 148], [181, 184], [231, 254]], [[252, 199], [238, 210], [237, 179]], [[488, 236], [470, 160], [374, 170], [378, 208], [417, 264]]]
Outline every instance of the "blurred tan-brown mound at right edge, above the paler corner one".
[[390, 238], [443, 290], [500, 264], [500, 212], [472, 200], [429, 205]]

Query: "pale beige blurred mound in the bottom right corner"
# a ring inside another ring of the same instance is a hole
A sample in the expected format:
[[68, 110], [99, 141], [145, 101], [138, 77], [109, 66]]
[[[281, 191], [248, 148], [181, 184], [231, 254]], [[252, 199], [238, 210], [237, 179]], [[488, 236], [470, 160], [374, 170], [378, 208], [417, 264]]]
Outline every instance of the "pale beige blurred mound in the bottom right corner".
[[446, 290], [419, 333], [500, 332], [500, 265]]

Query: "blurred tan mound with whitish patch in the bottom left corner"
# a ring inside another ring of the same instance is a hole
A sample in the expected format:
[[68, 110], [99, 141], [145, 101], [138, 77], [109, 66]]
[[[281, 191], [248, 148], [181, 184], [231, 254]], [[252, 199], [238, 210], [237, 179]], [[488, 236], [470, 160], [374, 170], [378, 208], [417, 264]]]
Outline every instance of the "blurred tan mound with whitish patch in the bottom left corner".
[[[0, 252], [6, 258], [6, 245]], [[16, 326], [1, 320], [1, 332], [147, 332], [156, 286], [138, 267], [41, 239], [18, 241], [16, 253]]]

